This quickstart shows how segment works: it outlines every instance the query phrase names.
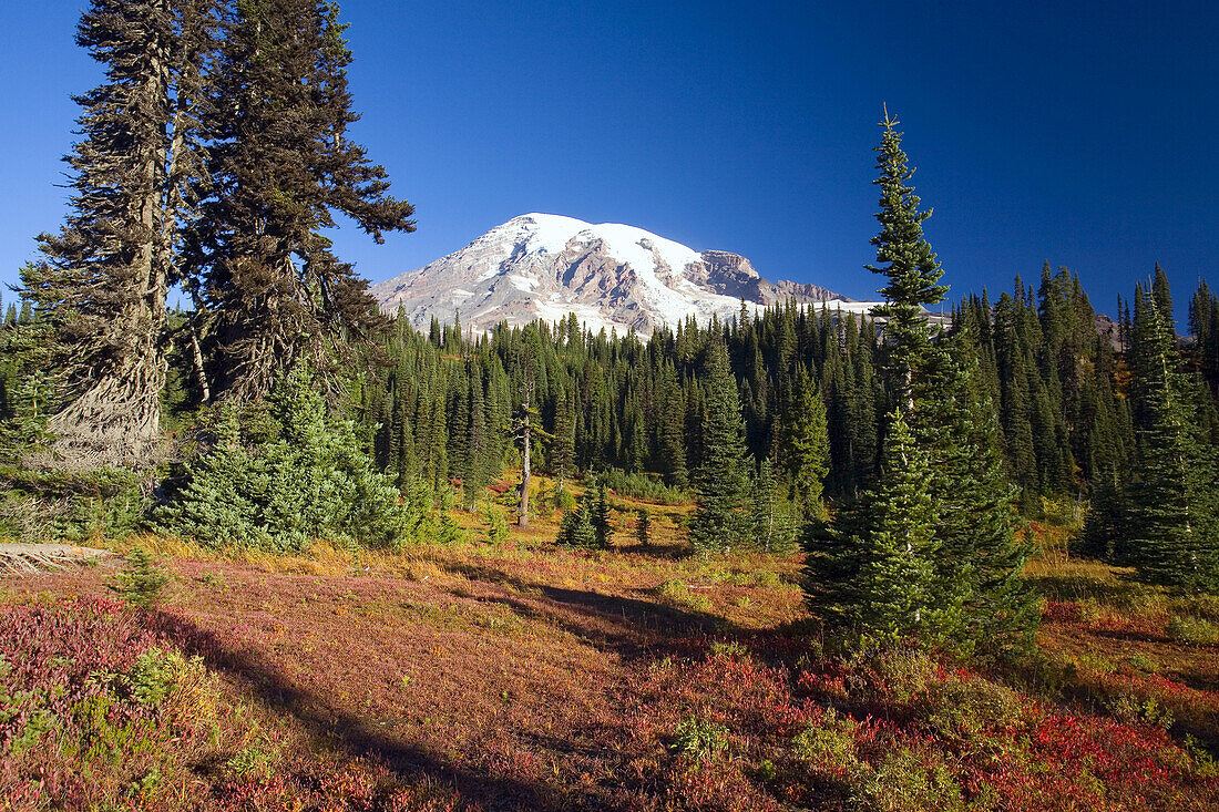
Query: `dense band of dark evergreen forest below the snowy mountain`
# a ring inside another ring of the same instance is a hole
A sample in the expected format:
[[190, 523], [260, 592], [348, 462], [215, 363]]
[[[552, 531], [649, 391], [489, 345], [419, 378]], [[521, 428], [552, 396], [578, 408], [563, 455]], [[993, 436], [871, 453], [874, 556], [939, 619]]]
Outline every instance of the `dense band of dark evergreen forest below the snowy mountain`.
[[[1086, 501], [1132, 469], [1147, 410], [1137, 374], [1150, 363], [1141, 356], [1152, 318], [1146, 305], [1173, 312], [1164, 272], [1157, 268], [1131, 300], [1132, 316], [1097, 319], [1079, 278], [1047, 263], [1036, 288], [1017, 278], [1013, 293], [993, 302], [986, 293], [968, 296], [946, 318], [945, 334], [959, 337], [978, 362], [978, 384], [1002, 429], [1004, 471], [1029, 515], [1042, 499]], [[1210, 444], [1219, 443], [1215, 302], [1202, 283], [1186, 349], [1174, 349], [1174, 368], [1193, 382], [1191, 419]], [[379, 427], [379, 465], [402, 486], [478, 485], [499, 475], [511, 454], [502, 427], [528, 385], [556, 438], [534, 449], [544, 469], [563, 477], [619, 468], [688, 489], [702, 462], [716, 340], [727, 349], [753, 460], [796, 477], [791, 438], [816, 394], [825, 412], [825, 495], [848, 496], [872, 477], [886, 402], [876, 374], [883, 330], [867, 316], [817, 304], [742, 307], [727, 323], [688, 319], [646, 339], [592, 333], [574, 316], [477, 338], [460, 322], [434, 321], [423, 333], [397, 319], [382, 345], [391, 365], [366, 382], [361, 408]]]

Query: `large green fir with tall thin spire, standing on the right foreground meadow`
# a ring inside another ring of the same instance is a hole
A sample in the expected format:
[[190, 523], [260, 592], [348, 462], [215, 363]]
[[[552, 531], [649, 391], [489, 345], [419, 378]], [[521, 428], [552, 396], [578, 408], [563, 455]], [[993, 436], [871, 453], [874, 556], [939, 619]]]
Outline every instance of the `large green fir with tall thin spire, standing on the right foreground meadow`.
[[[814, 523], [806, 534], [809, 605], [839, 633], [1002, 650], [1029, 639], [1035, 604], [1019, 575], [1028, 550], [1013, 535], [998, 427], [973, 383], [976, 358], [933, 341], [920, 310], [946, 289], [923, 239], [929, 212], [904, 184], [912, 172], [895, 124], [886, 112], [876, 182], [884, 194], [874, 244], [889, 265], [869, 267], [890, 279], [878, 313], [889, 318], [885, 378], [896, 407], [880, 480], [826, 530]], [[976, 337], [968, 340], [976, 346]], [[907, 555], [895, 557], [903, 539]]]

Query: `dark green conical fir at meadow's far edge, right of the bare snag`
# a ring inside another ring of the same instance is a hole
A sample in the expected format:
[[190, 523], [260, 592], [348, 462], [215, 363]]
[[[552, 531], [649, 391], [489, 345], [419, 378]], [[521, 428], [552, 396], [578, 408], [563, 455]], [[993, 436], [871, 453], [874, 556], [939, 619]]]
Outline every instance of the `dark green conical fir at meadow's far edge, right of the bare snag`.
[[736, 380], [728, 351], [717, 337], [708, 349], [702, 462], [695, 488], [697, 507], [690, 519], [690, 543], [707, 552], [739, 546], [748, 539], [748, 463]]

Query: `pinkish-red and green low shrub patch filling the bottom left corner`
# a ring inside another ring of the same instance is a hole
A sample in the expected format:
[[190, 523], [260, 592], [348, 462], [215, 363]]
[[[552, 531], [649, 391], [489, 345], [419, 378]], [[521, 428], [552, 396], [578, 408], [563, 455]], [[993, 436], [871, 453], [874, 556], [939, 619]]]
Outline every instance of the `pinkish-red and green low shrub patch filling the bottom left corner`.
[[145, 622], [105, 599], [0, 606], [0, 806], [168, 808], [189, 795], [182, 753], [211, 740], [219, 686]]

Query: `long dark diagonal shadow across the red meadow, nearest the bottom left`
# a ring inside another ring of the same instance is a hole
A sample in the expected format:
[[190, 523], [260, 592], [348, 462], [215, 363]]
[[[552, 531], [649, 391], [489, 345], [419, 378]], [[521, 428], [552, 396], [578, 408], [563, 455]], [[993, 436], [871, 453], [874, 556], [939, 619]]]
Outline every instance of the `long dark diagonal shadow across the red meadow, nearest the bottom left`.
[[[187, 617], [157, 612], [154, 624], [177, 640], [183, 650], [238, 682], [256, 700], [277, 713], [295, 718], [316, 743], [335, 755], [363, 757], [383, 763], [405, 783], [419, 780], [451, 786], [467, 803], [485, 810], [614, 810], [603, 796], [573, 795], [558, 788], [492, 775], [486, 771], [460, 764], [378, 729], [361, 718], [335, 707], [325, 697], [304, 691], [283, 674], [249, 654], [227, 646], [215, 633]], [[577, 747], [577, 745], [569, 745]]]

